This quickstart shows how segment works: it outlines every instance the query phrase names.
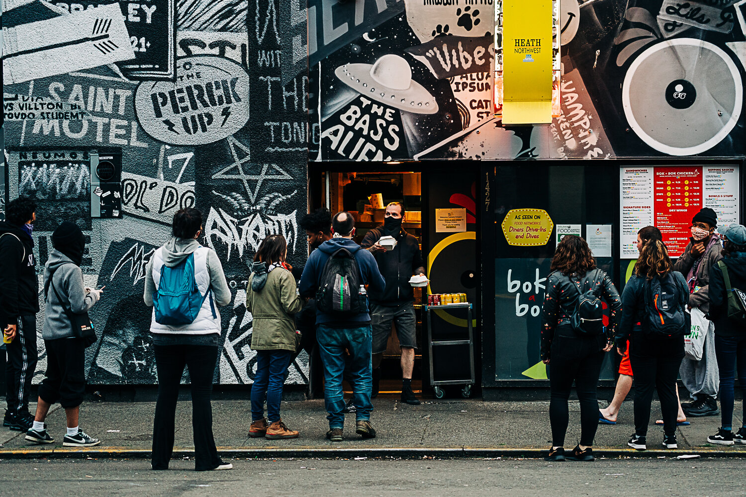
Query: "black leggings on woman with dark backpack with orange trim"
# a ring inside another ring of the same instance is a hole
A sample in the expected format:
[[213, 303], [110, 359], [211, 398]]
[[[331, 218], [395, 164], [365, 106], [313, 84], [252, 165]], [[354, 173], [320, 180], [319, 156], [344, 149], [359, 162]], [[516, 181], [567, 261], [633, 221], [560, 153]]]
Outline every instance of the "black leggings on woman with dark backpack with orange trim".
[[630, 364], [635, 375], [635, 434], [645, 437], [651, 420], [653, 389], [658, 390], [663, 432], [676, 432], [679, 401], [676, 379], [684, 358], [684, 337], [648, 340], [635, 333], [630, 340]]

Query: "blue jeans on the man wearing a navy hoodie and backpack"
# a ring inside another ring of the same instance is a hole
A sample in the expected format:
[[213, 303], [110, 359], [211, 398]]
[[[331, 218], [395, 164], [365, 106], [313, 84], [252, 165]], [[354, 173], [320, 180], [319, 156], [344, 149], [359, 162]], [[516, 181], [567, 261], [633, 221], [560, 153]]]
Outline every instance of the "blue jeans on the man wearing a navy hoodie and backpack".
[[[372, 329], [370, 325], [360, 328], [330, 328], [320, 324], [316, 331], [319, 352], [324, 364], [324, 402], [329, 428], [345, 425], [345, 397], [342, 393], [342, 376], [352, 386], [352, 403], [357, 407], [357, 420], [370, 420], [373, 405], [372, 378]], [[350, 352], [345, 361], [345, 349]]]

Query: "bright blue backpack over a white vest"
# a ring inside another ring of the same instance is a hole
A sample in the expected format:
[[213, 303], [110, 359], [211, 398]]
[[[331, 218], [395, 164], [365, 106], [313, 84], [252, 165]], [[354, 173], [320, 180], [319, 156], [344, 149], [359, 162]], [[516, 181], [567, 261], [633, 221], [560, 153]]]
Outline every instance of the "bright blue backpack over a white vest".
[[194, 277], [193, 253], [173, 268], [164, 264], [160, 268], [158, 290], [153, 295], [155, 322], [169, 326], [192, 324], [207, 297], [210, 297], [210, 309], [213, 319], [216, 319], [218, 316], [210, 292], [208, 290], [204, 297], [199, 293]]

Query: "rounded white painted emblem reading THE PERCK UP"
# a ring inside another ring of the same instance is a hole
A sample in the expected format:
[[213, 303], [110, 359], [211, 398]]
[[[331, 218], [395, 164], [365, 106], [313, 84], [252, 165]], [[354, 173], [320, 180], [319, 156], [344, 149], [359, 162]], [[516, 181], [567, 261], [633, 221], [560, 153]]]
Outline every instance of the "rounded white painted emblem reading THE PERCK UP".
[[248, 75], [233, 60], [193, 55], [176, 62], [176, 81], [143, 81], [135, 92], [140, 126], [172, 145], [204, 145], [248, 121]]

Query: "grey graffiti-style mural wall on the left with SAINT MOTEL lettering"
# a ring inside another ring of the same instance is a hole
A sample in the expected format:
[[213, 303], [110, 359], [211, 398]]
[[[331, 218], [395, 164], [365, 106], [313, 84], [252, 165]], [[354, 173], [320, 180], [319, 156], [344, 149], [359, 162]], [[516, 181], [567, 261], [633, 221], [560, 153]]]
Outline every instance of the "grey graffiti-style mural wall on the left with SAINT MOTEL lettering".
[[[155, 382], [145, 265], [170, 238], [174, 212], [197, 206], [201, 243], [219, 254], [233, 293], [222, 309], [215, 381], [251, 383], [245, 285], [254, 253], [280, 233], [292, 265], [307, 256], [298, 229], [307, 212], [307, 73], [286, 68], [293, 49], [307, 50], [306, 37], [290, 48], [281, 37], [284, 25], [297, 25], [293, 12], [279, 0], [4, 7], [7, 191], [38, 200], [42, 264], [60, 221], [84, 229], [87, 285], [107, 287], [91, 312], [100, 340], [87, 350], [90, 382]], [[122, 212], [113, 218], [90, 215], [95, 153], [121, 153], [121, 191], [113, 194]], [[42, 353], [37, 381], [45, 365]], [[307, 382], [305, 355], [289, 382]]]

